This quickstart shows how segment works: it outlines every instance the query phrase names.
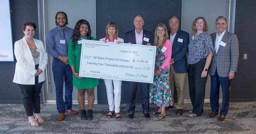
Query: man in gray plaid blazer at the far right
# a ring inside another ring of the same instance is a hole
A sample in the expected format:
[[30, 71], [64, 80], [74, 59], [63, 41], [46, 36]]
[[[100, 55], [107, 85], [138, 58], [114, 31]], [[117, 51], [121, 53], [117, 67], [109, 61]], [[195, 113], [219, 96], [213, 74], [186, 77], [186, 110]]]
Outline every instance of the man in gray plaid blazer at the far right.
[[239, 49], [237, 36], [226, 31], [227, 21], [225, 17], [219, 16], [216, 19], [215, 26], [217, 33], [211, 34], [215, 53], [209, 68], [209, 74], [211, 75], [210, 102], [212, 113], [209, 113], [208, 116], [214, 117], [219, 114], [219, 92], [221, 86], [223, 100], [220, 117], [217, 120], [221, 122], [225, 120], [229, 109], [229, 87], [230, 81], [234, 78], [237, 71]]

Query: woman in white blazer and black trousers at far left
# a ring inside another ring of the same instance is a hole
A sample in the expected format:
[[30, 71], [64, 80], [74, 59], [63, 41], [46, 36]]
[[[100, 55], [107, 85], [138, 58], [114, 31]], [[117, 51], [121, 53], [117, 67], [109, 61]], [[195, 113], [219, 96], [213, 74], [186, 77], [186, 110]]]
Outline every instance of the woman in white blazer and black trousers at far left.
[[[23, 105], [29, 123], [39, 126], [44, 123], [40, 114], [40, 92], [45, 80], [47, 53], [41, 40], [33, 39], [36, 23], [26, 22], [22, 26], [24, 37], [14, 43], [17, 63], [13, 82], [17, 83], [23, 94]], [[33, 115], [35, 113], [35, 116]]]

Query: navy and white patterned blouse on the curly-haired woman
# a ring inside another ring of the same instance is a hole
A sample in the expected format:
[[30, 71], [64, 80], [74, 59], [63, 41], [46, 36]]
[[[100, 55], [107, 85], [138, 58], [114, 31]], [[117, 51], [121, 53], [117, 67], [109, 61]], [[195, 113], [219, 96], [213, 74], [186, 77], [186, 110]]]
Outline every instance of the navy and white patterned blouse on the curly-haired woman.
[[192, 33], [192, 35], [189, 38], [189, 64], [195, 64], [202, 58], [207, 58], [208, 54], [211, 51], [214, 54], [215, 49], [212, 44], [211, 36], [208, 33], [200, 33], [196, 39], [195, 33]]

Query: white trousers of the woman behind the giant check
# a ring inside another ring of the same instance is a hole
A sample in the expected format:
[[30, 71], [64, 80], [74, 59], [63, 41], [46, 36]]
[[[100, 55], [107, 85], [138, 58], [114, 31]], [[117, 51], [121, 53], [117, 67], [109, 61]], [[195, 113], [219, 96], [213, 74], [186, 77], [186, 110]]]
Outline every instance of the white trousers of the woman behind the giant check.
[[[115, 113], [120, 112], [120, 103], [121, 103], [121, 80], [112, 80], [112, 79], [104, 79], [104, 83], [106, 86], [107, 97], [108, 97], [108, 105], [109, 111], [115, 111]], [[113, 89], [114, 83], [114, 89]]]

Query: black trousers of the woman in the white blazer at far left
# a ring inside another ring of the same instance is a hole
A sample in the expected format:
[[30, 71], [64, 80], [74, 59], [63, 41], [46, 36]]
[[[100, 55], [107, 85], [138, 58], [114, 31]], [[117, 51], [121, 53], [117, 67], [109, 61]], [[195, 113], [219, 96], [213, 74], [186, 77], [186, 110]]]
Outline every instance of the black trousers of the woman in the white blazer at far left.
[[[39, 65], [36, 65], [38, 69]], [[35, 76], [35, 85], [18, 84], [23, 94], [23, 105], [27, 116], [33, 116], [33, 112], [40, 113], [40, 93], [44, 82], [38, 83], [38, 76]]]

